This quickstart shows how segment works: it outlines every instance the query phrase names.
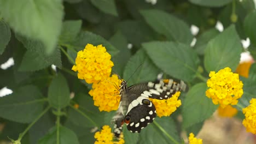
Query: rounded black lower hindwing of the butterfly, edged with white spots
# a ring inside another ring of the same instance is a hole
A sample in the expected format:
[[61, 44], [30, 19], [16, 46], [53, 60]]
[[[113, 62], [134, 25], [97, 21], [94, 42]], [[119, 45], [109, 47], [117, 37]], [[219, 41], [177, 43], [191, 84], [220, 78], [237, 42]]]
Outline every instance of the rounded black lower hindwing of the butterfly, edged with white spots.
[[129, 118], [127, 129], [132, 133], [140, 133], [141, 130], [152, 123], [156, 117], [155, 106], [148, 99], [142, 99], [141, 103], [127, 112], [124, 119]]

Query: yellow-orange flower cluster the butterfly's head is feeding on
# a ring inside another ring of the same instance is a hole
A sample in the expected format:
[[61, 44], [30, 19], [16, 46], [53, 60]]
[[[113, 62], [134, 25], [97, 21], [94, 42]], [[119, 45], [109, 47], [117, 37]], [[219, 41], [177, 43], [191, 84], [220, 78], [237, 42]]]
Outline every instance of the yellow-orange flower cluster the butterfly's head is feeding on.
[[106, 80], [93, 83], [89, 94], [94, 99], [94, 105], [98, 106], [100, 111], [117, 110], [120, 102], [118, 88], [120, 80], [117, 75], [112, 75]]

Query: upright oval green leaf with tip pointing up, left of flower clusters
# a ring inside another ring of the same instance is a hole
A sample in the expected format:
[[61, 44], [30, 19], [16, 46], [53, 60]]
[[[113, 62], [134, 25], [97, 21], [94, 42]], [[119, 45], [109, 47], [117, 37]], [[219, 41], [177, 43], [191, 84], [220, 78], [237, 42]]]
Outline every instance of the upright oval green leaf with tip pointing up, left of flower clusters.
[[65, 77], [58, 73], [48, 88], [49, 104], [56, 109], [61, 109], [69, 104], [69, 94], [69, 87]]

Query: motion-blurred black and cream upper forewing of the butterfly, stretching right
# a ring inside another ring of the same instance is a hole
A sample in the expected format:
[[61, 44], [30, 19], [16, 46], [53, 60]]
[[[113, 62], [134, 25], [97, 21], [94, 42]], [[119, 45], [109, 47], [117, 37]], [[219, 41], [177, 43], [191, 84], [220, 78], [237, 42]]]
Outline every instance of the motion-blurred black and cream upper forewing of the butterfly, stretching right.
[[172, 79], [160, 80], [156, 82], [141, 83], [129, 87], [129, 91], [140, 93], [142, 97], [152, 99], [168, 99], [172, 94], [177, 91], [185, 91], [186, 84], [181, 81], [180, 83]]

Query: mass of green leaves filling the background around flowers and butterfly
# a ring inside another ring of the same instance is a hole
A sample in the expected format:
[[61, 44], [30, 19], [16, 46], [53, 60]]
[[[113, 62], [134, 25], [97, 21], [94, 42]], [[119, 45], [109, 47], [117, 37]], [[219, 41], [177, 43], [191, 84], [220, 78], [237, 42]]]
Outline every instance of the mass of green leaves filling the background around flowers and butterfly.
[[[129, 86], [160, 73], [185, 81], [182, 105], [171, 116], [156, 117], [140, 134], [123, 127], [126, 143], [184, 143], [181, 135], [199, 133], [218, 107], [205, 94], [208, 73], [236, 70], [241, 39], [251, 40], [248, 50], [256, 56], [255, 14], [253, 0], [0, 0], [0, 65], [14, 59], [0, 69], [0, 88], [13, 90], [0, 97], [0, 143], [10, 137], [27, 144], [87, 144], [103, 125], [113, 128], [115, 111], [100, 111], [88, 94], [92, 85], [71, 70], [86, 44], [106, 47], [112, 74]], [[199, 27], [197, 35], [191, 25]], [[235, 107], [243, 119], [242, 109], [256, 98], [256, 65], [240, 80], [244, 93]]]

